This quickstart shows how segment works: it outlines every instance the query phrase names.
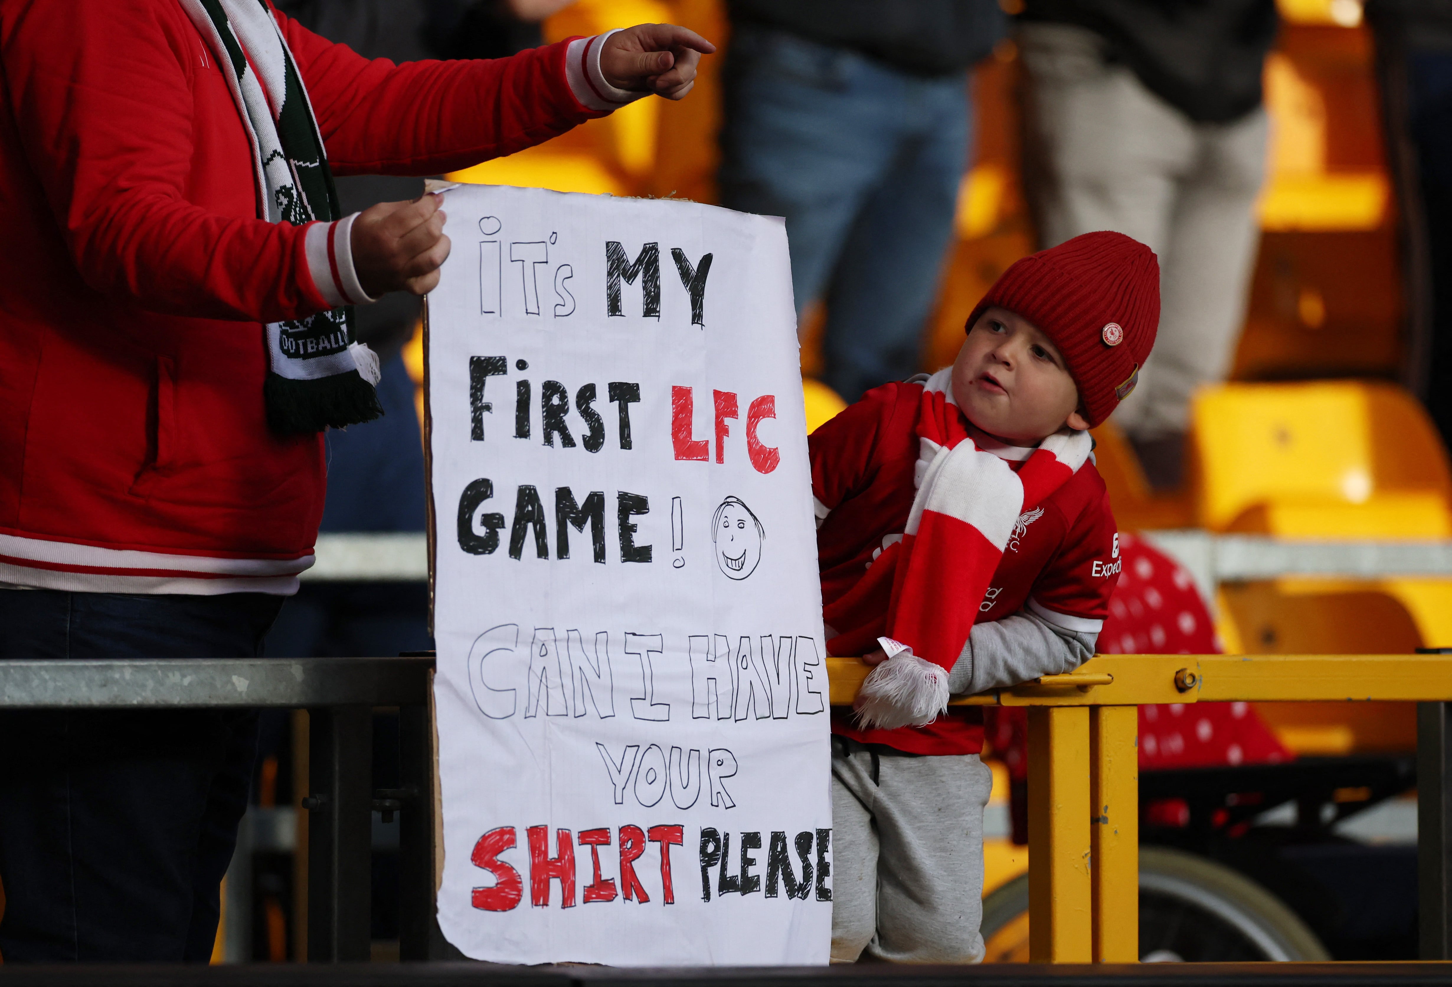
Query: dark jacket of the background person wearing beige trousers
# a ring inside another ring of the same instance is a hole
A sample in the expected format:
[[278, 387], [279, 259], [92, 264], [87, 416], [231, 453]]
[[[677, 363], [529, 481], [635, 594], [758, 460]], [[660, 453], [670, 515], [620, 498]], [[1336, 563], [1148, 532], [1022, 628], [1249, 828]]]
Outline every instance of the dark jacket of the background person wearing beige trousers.
[[1279, 26], [1275, 0], [1028, 0], [1022, 17], [1089, 28], [1111, 60], [1201, 123], [1260, 106], [1260, 73]]

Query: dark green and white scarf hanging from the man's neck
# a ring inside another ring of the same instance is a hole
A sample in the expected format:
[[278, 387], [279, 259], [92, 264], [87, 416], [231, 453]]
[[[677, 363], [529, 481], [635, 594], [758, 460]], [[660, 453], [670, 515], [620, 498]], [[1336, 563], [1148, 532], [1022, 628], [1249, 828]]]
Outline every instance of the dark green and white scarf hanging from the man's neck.
[[[257, 215], [295, 226], [338, 219], [322, 136], [267, 0], [180, 3], [209, 42], [251, 139]], [[315, 433], [383, 414], [373, 389], [378, 356], [354, 340], [351, 306], [270, 322], [266, 331], [263, 390], [273, 431]]]

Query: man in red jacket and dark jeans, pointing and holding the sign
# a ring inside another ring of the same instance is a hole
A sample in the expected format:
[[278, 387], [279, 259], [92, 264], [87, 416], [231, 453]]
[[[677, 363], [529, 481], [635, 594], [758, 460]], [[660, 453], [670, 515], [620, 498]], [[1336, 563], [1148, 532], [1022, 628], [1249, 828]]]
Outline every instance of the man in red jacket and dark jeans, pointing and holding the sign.
[[[393, 65], [261, 0], [0, 0], [0, 656], [257, 655], [321, 431], [378, 414], [347, 306], [449, 253], [437, 196], [341, 216], [330, 164], [510, 154], [680, 99], [709, 51], [643, 25]], [[3, 717], [6, 962], [205, 961], [254, 743], [251, 714]]]

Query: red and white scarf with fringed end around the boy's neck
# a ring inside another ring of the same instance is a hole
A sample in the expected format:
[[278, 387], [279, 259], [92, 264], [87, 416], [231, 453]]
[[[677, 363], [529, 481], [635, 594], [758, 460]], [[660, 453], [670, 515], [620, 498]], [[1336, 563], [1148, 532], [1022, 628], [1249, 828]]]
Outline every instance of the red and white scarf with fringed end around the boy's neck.
[[[867, 676], [855, 704], [864, 727], [922, 726], [947, 710], [948, 669], [963, 653], [1015, 523], [1063, 486], [1093, 447], [1089, 433], [1066, 428], [1015, 470], [970, 434], [953, 401], [951, 377], [951, 369], [939, 370], [923, 385], [918, 494], [902, 541], [889, 546], [847, 594], [854, 599], [844, 597], [825, 614], [832, 624], [832, 615], [861, 613], [890, 581], [887, 636], [877, 639], [887, 660]], [[847, 637], [833, 639], [833, 655], [855, 643]]]

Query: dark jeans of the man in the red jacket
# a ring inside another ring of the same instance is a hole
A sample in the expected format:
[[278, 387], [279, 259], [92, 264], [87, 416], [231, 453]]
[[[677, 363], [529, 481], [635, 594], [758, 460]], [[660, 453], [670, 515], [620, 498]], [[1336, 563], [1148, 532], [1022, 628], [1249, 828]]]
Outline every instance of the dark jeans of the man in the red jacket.
[[[0, 591], [0, 658], [256, 658], [282, 597]], [[257, 714], [0, 714], [4, 962], [206, 962]]]

